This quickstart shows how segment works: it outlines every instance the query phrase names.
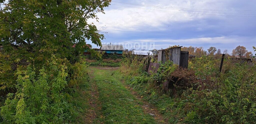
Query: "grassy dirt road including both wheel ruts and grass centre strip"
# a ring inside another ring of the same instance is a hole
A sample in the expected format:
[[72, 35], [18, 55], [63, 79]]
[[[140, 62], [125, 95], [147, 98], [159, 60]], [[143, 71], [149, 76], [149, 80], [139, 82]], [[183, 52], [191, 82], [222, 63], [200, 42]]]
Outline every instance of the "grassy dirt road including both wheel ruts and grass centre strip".
[[121, 81], [118, 68], [90, 67], [91, 100], [86, 115], [88, 123], [157, 124], [165, 123], [161, 115], [141, 101], [131, 88]]

